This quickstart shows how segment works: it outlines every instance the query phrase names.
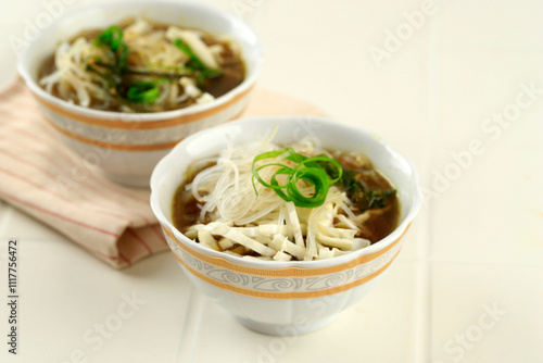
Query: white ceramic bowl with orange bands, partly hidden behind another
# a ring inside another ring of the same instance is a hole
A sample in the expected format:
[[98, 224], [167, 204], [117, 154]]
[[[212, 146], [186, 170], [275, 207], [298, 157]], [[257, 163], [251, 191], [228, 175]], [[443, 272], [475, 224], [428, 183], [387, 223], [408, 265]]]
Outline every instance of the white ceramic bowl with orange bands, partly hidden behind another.
[[[105, 28], [129, 16], [143, 16], [226, 35], [241, 46], [247, 77], [241, 85], [211, 103], [157, 113], [119, 113], [71, 104], [37, 84], [38, 70], [55, 46], [84, 29]], [[239, 18], [189, 2], [112, 2], [74, 8], [42, 32], [21, 53], [18, 72], [38, 101], [45, 118], [83, 158], [98, 164], [111, 179], [148, 186], [156, 162], [188, 135], [238, 116], [256, 80], [262, 55], [253, 32]]]

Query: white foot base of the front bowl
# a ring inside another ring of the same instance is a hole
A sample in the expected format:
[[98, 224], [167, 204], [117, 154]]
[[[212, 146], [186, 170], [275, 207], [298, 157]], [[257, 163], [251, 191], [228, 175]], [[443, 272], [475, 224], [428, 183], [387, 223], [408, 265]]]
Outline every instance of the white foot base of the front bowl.
[[314, 321], [312, 323], [305, 322], [304, 324], [287, 324], [287, 325], [281, 325], [281, 324], [268, 324], [268, 323], [261, 323], [256, 322], [250, 318], [245, 317], [240, 317], [236, 316], [236, 320], [243, 325], [244, 327], [256, 331], [256, 333], [262, 333], [266, 335], [273, 335], [273, 336], [296, 336], [296, 335], [303, 335], [312, 331], [316, 331], [318, 329], [324, 328], [328, 324], [330, 324], [337, 315], [332, 316], [327, 316], [325, 318], [320, 318], [318, 321]]

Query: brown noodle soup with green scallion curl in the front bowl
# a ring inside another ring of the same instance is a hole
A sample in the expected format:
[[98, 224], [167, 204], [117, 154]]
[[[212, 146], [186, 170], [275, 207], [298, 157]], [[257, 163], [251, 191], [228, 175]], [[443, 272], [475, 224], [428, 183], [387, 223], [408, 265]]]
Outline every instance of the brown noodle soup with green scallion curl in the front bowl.
[[188, 168], [173, 222], [207, 248], [250, 259], [311, 261], [388, 236], [400, 217], [396, 190], [364, 154], [310, 139], [229, 146]]

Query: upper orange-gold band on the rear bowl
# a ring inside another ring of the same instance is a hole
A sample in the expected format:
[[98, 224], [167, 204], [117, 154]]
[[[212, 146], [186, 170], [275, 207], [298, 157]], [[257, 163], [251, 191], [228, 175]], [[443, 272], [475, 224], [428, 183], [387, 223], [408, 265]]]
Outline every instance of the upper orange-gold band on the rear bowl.
[[61, 114], [74, 122], [79, 122], [84, 124], [89, 124], [93, 126], [100, 126], [100, 127], [106, 127], [106, 128], [121, 128], [121, 129], [132, 129], [132, 130], [138, 130], [138, 129], [154, 129], [154, 128], [164, 128], [164, 127], [173, 127], [181, 124], [187, 124], [190, 122], [199, 121], [204, 117], [213, 116], [220, 111], [224, 111], [241, 100], [243, 97], [245, 97], [254, 87], [254, 84], [251, 85], [248, 89], [242, 91], [241, 93], [236, 95], [232, 97], [230, 100], [227, 102], [219, 104], [215, 108], [197, 112], [197, 113], [191, 113], [187, 115], [181, 115], [178, 117], [172, 117], [172, 118], [166, 118], [166, 120], [157, 120], [157, 121], [123, 121], [119, 118], [112, 120], [112, 118], [99, 118], [99, 117], [93, 117], [89, 115], [84, 115], [80, 113], [76, 113], [73, 111], [68, 111], [64, 109], [63, 107], [52, 103], [43, 98], [41, 98], [39, 95], [34, 93], [34, 97], [40, 102], [45, 108], [49, 109], [50, 111]]

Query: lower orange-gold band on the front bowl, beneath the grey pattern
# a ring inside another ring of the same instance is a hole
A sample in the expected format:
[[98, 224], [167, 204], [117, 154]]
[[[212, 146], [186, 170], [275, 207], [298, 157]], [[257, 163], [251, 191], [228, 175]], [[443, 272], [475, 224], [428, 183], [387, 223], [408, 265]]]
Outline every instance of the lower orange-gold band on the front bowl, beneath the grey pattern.
[[397, 250], [397, 252], [392, 256], [392, 259], [390, 259], [390, 261], [387, 262], [381, 268], [375, 271], [374, 273], [371, 273], [371, 274], [369, 274], [369, 275], [367, 275], [365, 277], [355, 279], [354, 281], [351, 281], [349, 284], [336, 286], [336, 287], [328, 288], [328, 289], [321, 289], [321, 290], [289, 291], [289, 292], [275, 292], [275, 291], [253, 290], [253, 289], [247, 289], [247, 288], [239, 287], [239, 286], [233, 286], [233, 285], [230, 285], [230, 284], [227, 284], [227, 283], [223, 283], [223, 281], [217, 281], [217, 280], [215, 280], [215, 279], [213, 279], [213, 278], [211, 278], [209, 276], [205, 276], [205, 275], [203, 275], [203, 274], [194, 271], [187, 263], [185, 263], [177, 254], [175, 254], [175, 253], [174, 254], [175, 254], [177, 261], [179, 261], [179, 263], [181, 263], [181, 265], [184, 265], [185, 268], [187, 268], [195, 277], [204, 280], [205, 283], [207, 283], [210, 285], [218, 287], [220, 289], [232, 291], [232, 292], [244, 295], [244, 296], [249, 296], [249, 297], [253, 297], [253, 298], [274, 299], [274, 300], [289, 300], [289, 299], [321, 298], [321, 297], [326, 297], [326, 296], [330, 296], [330, 295], [343, 292], [343, 291], [350, 290], [350, 289], [352, 289], [354, 287], [361, 286], [362, 284], [365, 284], [365, 283], [367, 283], [367, 281], [376, 278], [380, 274], [382, 274], [390, 266], [390, 264], [392, 263], [392, 261], [394, 261], [394, 259], [397, 256], [399, 253], [400, 253], [400, 250]]

